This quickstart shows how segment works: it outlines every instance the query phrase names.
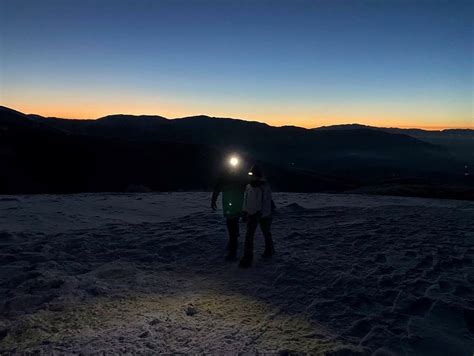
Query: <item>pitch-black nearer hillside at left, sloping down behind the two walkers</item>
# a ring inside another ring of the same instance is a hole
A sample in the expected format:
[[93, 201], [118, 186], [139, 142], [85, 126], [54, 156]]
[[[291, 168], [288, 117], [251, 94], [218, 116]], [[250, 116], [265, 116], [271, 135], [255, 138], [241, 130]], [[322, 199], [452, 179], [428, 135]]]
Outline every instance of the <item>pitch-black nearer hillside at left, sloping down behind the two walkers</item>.
[[[150, 137], [137, 139], [140, 129], [135, 125], [148, 125], [155, 118], [141, 117], [131, 128], [126, 128], [127, 120], [124, 123], [122, 117], [114, 116], [94, 124], [43, 119], [0, 107], [0, 194], [212, 189], [228, 151]], [[87, 134], [89, 124], [102, 130], [111, 122], [118, 131], [133, 133], [136, 129], [137, 134], [130, 138]], [[277, 190], [353, 187], [343, 179], [262, 164]]]

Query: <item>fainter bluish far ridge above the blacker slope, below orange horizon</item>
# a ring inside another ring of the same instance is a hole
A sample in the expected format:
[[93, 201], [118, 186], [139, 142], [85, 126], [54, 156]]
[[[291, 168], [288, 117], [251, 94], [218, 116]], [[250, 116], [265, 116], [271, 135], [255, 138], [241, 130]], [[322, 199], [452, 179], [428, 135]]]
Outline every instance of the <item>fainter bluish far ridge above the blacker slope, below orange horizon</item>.
[[[307, 130], [258, 122], [194, 116], [114, 115], [97, 120], [45, 119], [70, 133], [93, 137], [193, 143], [235, 150], [287, 168], [362, 179], [456, 172], [448, 150], [409, 135], [365, 127]], [[66, 121], [66, 122], [65, 122]], [[370, 173], [370, 175], [369, 175]]]

